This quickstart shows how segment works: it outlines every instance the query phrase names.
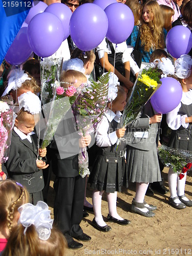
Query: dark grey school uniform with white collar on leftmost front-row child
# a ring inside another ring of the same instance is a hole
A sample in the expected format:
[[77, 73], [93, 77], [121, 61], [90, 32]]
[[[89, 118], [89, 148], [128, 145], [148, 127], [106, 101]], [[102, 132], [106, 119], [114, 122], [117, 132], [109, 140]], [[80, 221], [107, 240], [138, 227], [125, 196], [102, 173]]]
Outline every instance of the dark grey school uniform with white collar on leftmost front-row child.
[[43, 201], [42, 188], [44, 178], [42, 169], [37, 168], [37, 135], [25, 135], [16, 127], [12, 130], [9, 158], [5, 163], [8, 176], [25, 186], [31, 196], [32, 203]]

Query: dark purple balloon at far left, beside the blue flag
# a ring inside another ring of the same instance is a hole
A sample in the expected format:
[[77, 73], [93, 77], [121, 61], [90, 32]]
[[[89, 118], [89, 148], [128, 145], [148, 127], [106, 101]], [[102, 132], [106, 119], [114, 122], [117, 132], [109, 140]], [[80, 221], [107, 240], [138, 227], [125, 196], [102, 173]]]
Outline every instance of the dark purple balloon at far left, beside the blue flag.
[[29, 58], [32, 49], [27, 36], [27, 27], [20, 28], [6, 56], [11, 65], [19, 65]]

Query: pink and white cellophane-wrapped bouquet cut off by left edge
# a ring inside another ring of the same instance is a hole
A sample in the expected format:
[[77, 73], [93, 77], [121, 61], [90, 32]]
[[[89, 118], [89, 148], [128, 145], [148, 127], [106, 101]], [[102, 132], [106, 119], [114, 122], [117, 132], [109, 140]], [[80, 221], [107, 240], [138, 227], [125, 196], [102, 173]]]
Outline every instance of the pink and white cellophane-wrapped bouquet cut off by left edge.
[[9, 157], [11, 130], [13, 127], [13, 110], [7, 102], [0, 101], [0, 161], [5, 163]]

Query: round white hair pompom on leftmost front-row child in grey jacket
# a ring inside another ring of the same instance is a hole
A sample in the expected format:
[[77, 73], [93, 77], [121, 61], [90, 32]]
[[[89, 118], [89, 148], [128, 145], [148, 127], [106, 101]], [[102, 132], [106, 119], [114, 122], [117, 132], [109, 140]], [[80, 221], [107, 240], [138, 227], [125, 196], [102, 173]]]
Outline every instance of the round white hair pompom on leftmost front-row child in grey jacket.
[[41, 111], [40, 99], [32, 92], [23, 93], [18, 97], [19, 110], [24, 108], [25, 111], [32, 115], [38, 114]]

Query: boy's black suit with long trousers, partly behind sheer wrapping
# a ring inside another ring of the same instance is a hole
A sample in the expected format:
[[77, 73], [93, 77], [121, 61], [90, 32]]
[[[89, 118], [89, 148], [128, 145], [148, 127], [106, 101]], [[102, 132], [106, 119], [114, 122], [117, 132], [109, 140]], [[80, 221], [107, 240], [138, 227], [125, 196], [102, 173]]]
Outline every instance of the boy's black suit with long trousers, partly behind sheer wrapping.
[[75, 127], [75, 119], [70, 110], [60, 121], [50, 145], [52, 168], [56, 175], [54, 222], [64, 234], [68, 244], [83, 233], [79, 224], [83, 217], [86, 186], [86, 179], [79, 175], [78, 153], [81, 136]]

